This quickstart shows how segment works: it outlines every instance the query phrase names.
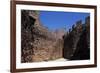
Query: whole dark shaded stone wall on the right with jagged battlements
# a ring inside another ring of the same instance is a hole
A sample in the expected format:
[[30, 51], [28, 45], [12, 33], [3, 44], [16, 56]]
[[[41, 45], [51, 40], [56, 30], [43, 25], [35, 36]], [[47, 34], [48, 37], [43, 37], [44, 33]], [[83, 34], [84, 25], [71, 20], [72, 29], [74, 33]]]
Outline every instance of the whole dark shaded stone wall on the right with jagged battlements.
[[76, 22], [72, 30], [64, 36], [63, 57], [69, 60], [90, 58], [90, 17], [86, 17], [85, 24]]

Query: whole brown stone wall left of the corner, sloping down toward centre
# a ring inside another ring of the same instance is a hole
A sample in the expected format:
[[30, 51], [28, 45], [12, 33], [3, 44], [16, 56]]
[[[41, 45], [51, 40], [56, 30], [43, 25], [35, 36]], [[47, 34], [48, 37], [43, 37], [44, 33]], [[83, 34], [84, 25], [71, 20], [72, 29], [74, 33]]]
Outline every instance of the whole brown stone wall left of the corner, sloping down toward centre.
[[40, 62], [62, 57], [63, 40], [39, 21], [36, 11], [22, 10], [21, 62]]

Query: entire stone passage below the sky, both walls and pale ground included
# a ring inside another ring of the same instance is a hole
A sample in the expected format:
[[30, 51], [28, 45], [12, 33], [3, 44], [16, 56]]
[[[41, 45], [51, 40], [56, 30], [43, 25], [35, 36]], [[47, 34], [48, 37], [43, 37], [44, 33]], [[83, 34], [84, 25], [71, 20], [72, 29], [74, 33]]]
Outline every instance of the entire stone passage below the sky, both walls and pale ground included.
[[90, 17], [86, 17], [84, 24], [77, 21], [65, 32], [48, 30], [38, 15], [38, 11], [21, 11], [22, 63], [89, 59]]

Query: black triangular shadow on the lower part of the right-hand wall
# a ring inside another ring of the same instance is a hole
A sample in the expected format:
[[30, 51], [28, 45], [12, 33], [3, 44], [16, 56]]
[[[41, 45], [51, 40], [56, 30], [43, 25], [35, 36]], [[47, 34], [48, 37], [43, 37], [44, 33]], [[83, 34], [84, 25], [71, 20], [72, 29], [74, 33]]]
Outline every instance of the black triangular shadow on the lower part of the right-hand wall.
[[74, 52], [73, 56], [70, 58], [70, 60], [87, 60], [90, 59], [90, 48], [87, 43], [86, 39], [86, 31], [82, 33], [80, 36], [79, 42], [76, 46], [76, 51]]

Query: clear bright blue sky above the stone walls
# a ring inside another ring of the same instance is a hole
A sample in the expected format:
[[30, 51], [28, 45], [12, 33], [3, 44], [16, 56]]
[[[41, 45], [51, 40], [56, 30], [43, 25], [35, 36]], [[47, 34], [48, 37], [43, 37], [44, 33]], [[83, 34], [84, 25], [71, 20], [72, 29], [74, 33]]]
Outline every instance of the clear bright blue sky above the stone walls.
[[66, 28], [68, 30], [78, 20], [85, 21], [85, 17], [89, 16], [89, 13], [79, 12], [56, 12], [56, 11], [40, 11], [41, 23], [48, 27], [49, 30], [56, 30]]

